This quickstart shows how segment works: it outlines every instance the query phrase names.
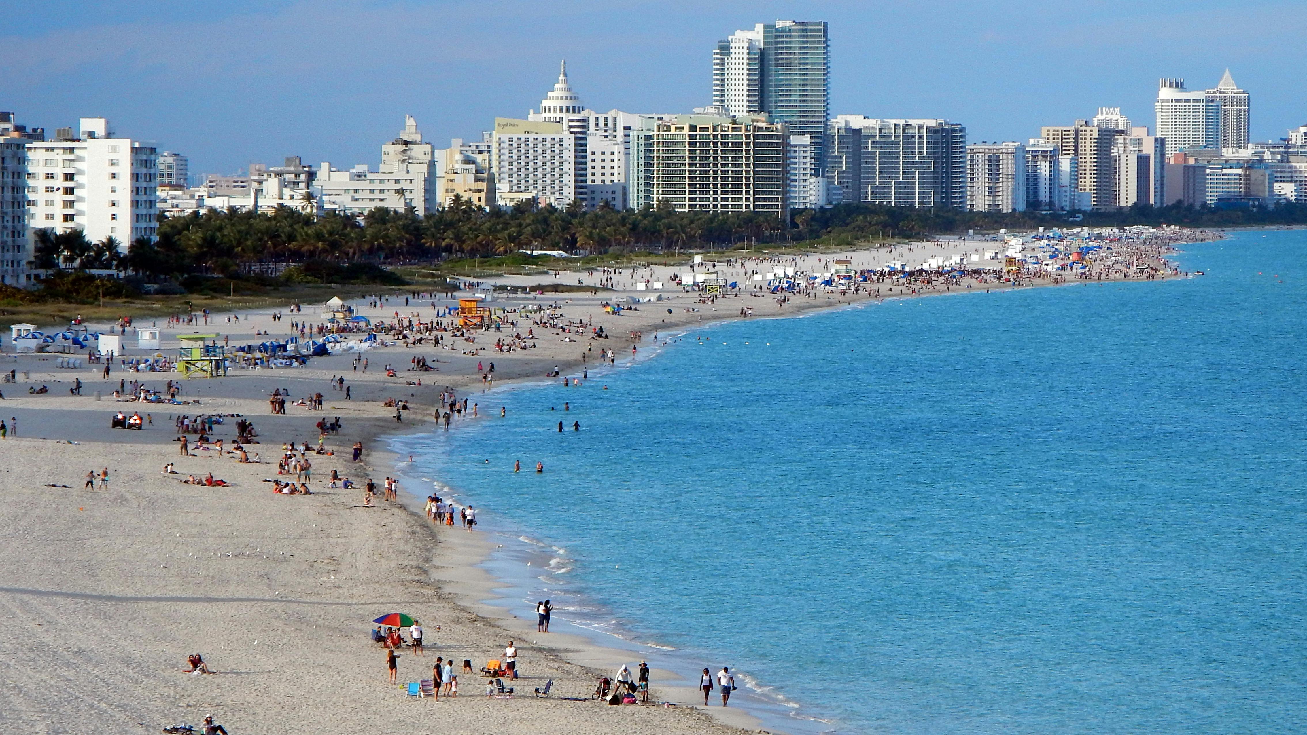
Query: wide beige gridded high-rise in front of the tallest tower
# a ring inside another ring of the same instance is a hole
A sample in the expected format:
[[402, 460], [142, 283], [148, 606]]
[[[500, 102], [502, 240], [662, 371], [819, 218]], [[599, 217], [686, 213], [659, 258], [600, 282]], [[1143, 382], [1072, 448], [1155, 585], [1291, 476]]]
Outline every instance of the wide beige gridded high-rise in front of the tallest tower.
[[761, 116], [680, 115], [633, 131], [637, 206], [788, 215], [784, 125]]

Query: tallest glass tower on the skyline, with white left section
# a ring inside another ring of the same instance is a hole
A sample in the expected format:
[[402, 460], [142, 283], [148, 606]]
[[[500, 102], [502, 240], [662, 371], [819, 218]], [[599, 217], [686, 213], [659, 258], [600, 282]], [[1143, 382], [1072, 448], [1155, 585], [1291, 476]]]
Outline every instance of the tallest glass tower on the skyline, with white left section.
[[830, 119], [827, 30], [825, 21], [758, 23], [712, 51], [712, 104], [736, 116], [766, 112], [791, 134], [809, 136], [818, 167]]

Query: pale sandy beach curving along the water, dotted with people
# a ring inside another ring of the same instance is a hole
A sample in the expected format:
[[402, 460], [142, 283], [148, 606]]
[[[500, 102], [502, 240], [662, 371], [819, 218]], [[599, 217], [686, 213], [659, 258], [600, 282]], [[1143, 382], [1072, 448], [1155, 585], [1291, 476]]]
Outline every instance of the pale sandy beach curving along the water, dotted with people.
[[[995, 247], [992, 242], [916, 243], [894, 252], [706, 264], [698, 272], [712, 269], [753, 285], [746, 275], [775, 266], [821, 273], [830, 270], [831, 261], [847, 258], [852, 268], [880, 268], [890, 260], [915, 262]], [[1149, 264], [1161, 265], [1155, 253], [1148, 257]], [[1129, 273], [1137, 279], [1134, 261], [1128, 266], [1125, 260], [1104, 261], [1094, 275], [1116, 279]], [[672, 285], [672, 273], [687, 270], [561, 272], [554, 277], [558, 283], [606, 285], [610, 290], [501, 291], [488, 305], [508, 309], [505, 319], [518, 324], [478, 333], [474, 342], [444, 333], [439, 347], [429, 339], [404, 346], [410, 339], [400, 337], [393, 346], [358, 354], [369, 360], [366, 372], [353, 364], [354, 354], [312, 358], [294, 368], [234, 368], [225, 377], [183, 381], [179, 398], [199, 401], [188, 405], [114, 397], [120, 385], [127, 388], [133, 380], [162, 389], [178, 379], [176, 373], [128, 372], [115, 364], [106, 379], [103, 366], [60, 368], [58, 355], [13, 355], [5, 339], [0, 371], [13, 371], [16, 383], [0, 384], [0, 419], [8, 432], [0, 440], [0, 533], [8, 551], [0, 559], [5, 616], [0, 649], [7, 665], [0, 693], [3, 730], [158, 732], [179, 722], [199, 725], [208, 714], [234, 735], [323, 727], [397, 734], [757, 730], [758, 722], [742, 710], [694, 706], [694, 689], [657, 670], [651, 698], [674, 706], [591, 701], [599, 675], [613, 676], [618, 665], [634, 666], [637, 661], [582, 636], [536, 633], [533, 620], [512, 618], [493, 604], [495, 582], [478, 567], [493, 544], [482, 534], [435, 527], [420, 507], [414, 512], [413, 501], [388, 503], [378, 496], [372, 507], [365, 507], [361, 490], [331, 488], [325, 482], [332, 470], [358, 486], [369, 478], [380, 483], [395, 475], [404, 458], [383, 452], [379, 437], [429, 431], [443, 390], [471, 401], [469, 411], [452, 419], [456, 428], [460, 422], [495, 419], [486, 406], [476, 418], [469, 415], [486, 388], [545, 380], [555, 367], [562, 376], [579, 377], [605, 350], [612, 350], [617, 362], [629, 360], [655, 336], [740, 319], [742, 312], [775, 317], [869, 298], [955, 292], [968, 286], [971, 291], [1013, 287], [999, 281], [959, 286], [936, 279], [910, 286], [886, 282], [880, 285], [881, 294], [872, 283], [859, 292], [818, 289], [783, 300], [754, 290], [714, 302]], [[1159, 277], [1170, 274], [1163, 270]], [[664, 289], [638, 287], [655, 282]], [[1021, 287], [1059, 282], [1053, 275], [1033, 275]], [[520, 289], [537, 283], [540, 277], [501, 277], [478, 282], [468, 292], [491, 285]], [[631, 296], [657, 295], [664, 300], [630, 303]], [[427, 322], [455, 303], [437, 296], [409, 298], [405, 304], [404, 294], [391, 294], [376, 305], [366, 300], [353, 304], [374, 321]], [[605, 303], [620, 303], [625, 311], [608, 313]], [[521, 307], [552, 307], [554, 317], [545, 320]], [[233, 345], [268, 339], [255, 334], [264, 330], [285, 337], [293, 321], [319, 324], [319, 311], [318, 304], [305, 304], [299, 313], [281, 309], [280, 321], [269, 309], [239, 312], [239, 322], [220, 313], [210, 315], [207, 325], [174, 329], [158, 320], [165, 328], [158, 351], [174, 354], [176, 336], [195, 332], [218, 333]], [[135, 326], [149, 324], [139, 320]], [[608, 338], [591, 338], [599, 326]], [[639, 338], [633, 339], [633, 333]], [[523, 336], [512, 339], [523, 349], [497, 351], [497, 339], [508, 341], [512, 334]], [[135, 349], [131, 330], [123, 342], [127, 358], [156, 351]], [[425, 358], [435, 369], [409, 369], [416, 358]], [[482, 377], [489, 375], [490, 363], [493, 383]], [[393, 377], [386, 375], [387, 364], [395, 367]], [[345, 379], [349, 399], [333, 388], [331, 381], [337, 376]], [[74, 380], [82, 383], [80, 396], [69, 394]], [[39, 386], [48, 392], [29, 393]], [[285, 415], [269, 414], [268, 398], [274, 390], [290, 397]], [[322, 410], [297, 405], [314, 393], [323, 394]], [[387, 399], [409, 403], [403, 422], [393, 418], [393, 407], [383, 405]], [[145, 428], [111, 430], [110, 419], [118, 410], [140, 411]], [[175, 441], [175, 420], [183, 414], [223, 415], [212, 439], [223, 440], [227, 452], [196, 448], [192, 433], [190, 452], [183, 456]], [[257, 463], [238, 462], [230, 453], [237, 415], [255, 424], [257, 444], [246, 444], [246, 450], [251, 458], [257, 456]], [[341, 431], [323, 437], [331, 454], [314, 452], [316, 422], [337, 416]], [[267, 482], [278, 479], [277, 461], [284, 444], [291, 441], [311, 448], [312, 495], [273, 493], [272, 482]], [[356, 441], [365, 446], [361, 462], [350, 458]], [[169, 462], [175, 463], [176, 474], [161, 474]], [[107, 487], [98, 480], [93, 488], [84, 487], [88, 473], [106, 467]], [[209, 474], [227, 480], [229, 487], [182, 482]], [[423, 487], [404, 490], [417, 496], [427, 492]], [[400, 685], [430, 678], [438, 655], [459, 663], [472, 661], [474, 672], [459, 678], [456, 698], [408, 697], [387, 683], [386, 651], [369, 638], [371, 620], [387, 612], [409, 614], [427, 631], [425, 655], [401, 651]], [[508, 640], [521, 651], [521, 676], [508, 681], [515, 696], [486, 697], [485, 679], [476, 671], [488, 659], [499, 658]], [[183, 674], [192, 653], [203, 654], [220, 674]], [[721, 663], [704, 666], [715, 671]], [[549, 680], [550, 698], [532, 696], [533, 688]]]

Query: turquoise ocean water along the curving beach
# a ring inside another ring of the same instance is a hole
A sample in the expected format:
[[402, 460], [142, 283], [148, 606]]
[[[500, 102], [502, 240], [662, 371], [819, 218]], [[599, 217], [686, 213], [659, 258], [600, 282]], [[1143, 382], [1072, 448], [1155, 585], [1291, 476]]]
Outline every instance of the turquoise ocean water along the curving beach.
[[1183, 249], [695, 329], [396, 450], [524, 539], [520, 614], [823, 721], [778, 727], [1307, 731], [1307, 232]]

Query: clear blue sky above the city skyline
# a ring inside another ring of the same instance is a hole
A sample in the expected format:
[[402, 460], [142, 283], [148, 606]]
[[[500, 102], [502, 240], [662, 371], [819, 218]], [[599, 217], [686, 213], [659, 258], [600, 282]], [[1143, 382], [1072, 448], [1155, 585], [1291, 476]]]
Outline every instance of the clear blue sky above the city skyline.
[[1307, 123], [1302, 1], [176, 0], [14, 3], [0, 23], [0, 110], [120, 133], [192, 172], [302, 155], [375, 167], [412, 114], [427, 140], [476, 138], [536, 107], [567, 59], [596, 110], [687, 112], [712, 44], [775, 18], [825, 20], [831, 111], [948, 117], [968, 140], [1120, 106], [1153, 124], [1158, 77], [1252, 93], [1252, 134]]

